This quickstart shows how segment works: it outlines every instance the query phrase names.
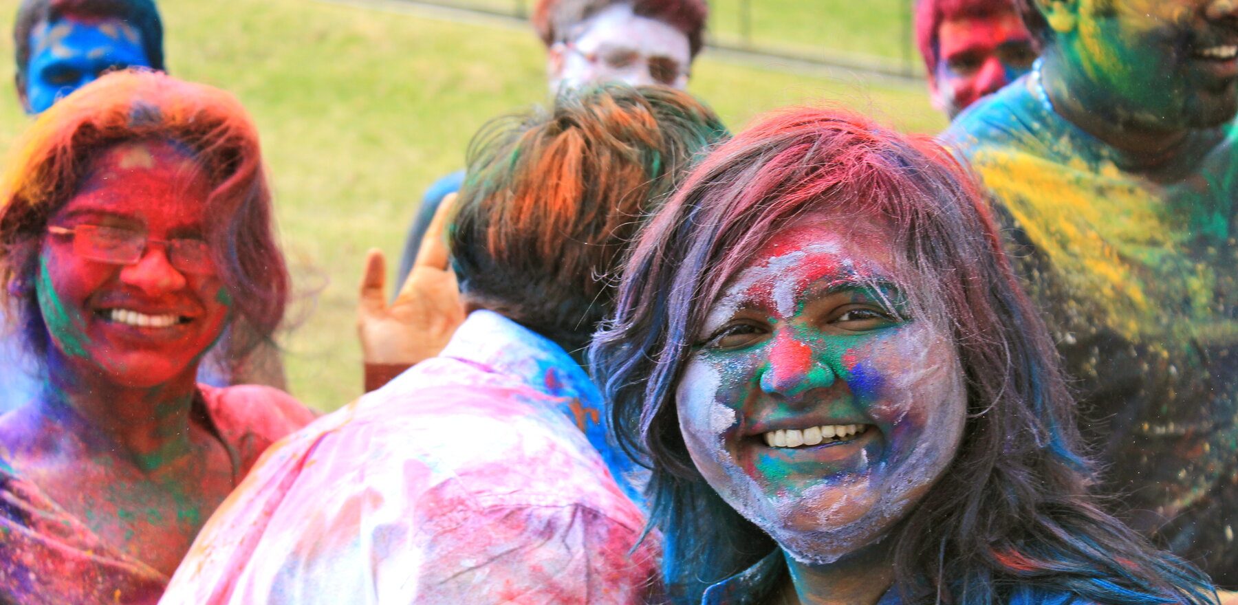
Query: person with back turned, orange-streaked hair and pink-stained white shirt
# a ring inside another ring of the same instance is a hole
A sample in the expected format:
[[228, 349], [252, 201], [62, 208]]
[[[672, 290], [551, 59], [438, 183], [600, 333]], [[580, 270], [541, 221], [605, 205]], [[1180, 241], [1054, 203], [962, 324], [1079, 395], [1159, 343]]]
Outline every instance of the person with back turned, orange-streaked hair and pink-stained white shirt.
[[[484, 127], [418, 259], [446, 264], [448, 234], [467, 319], [441, 355], [272, 448], [163, 603], [656, 601], [643, 479], [607, 440], [581, 349], [640, 218], [723, 136], [661, 87], [586, 89]], [[363, 318], [383, 280], [373, 251]]]

